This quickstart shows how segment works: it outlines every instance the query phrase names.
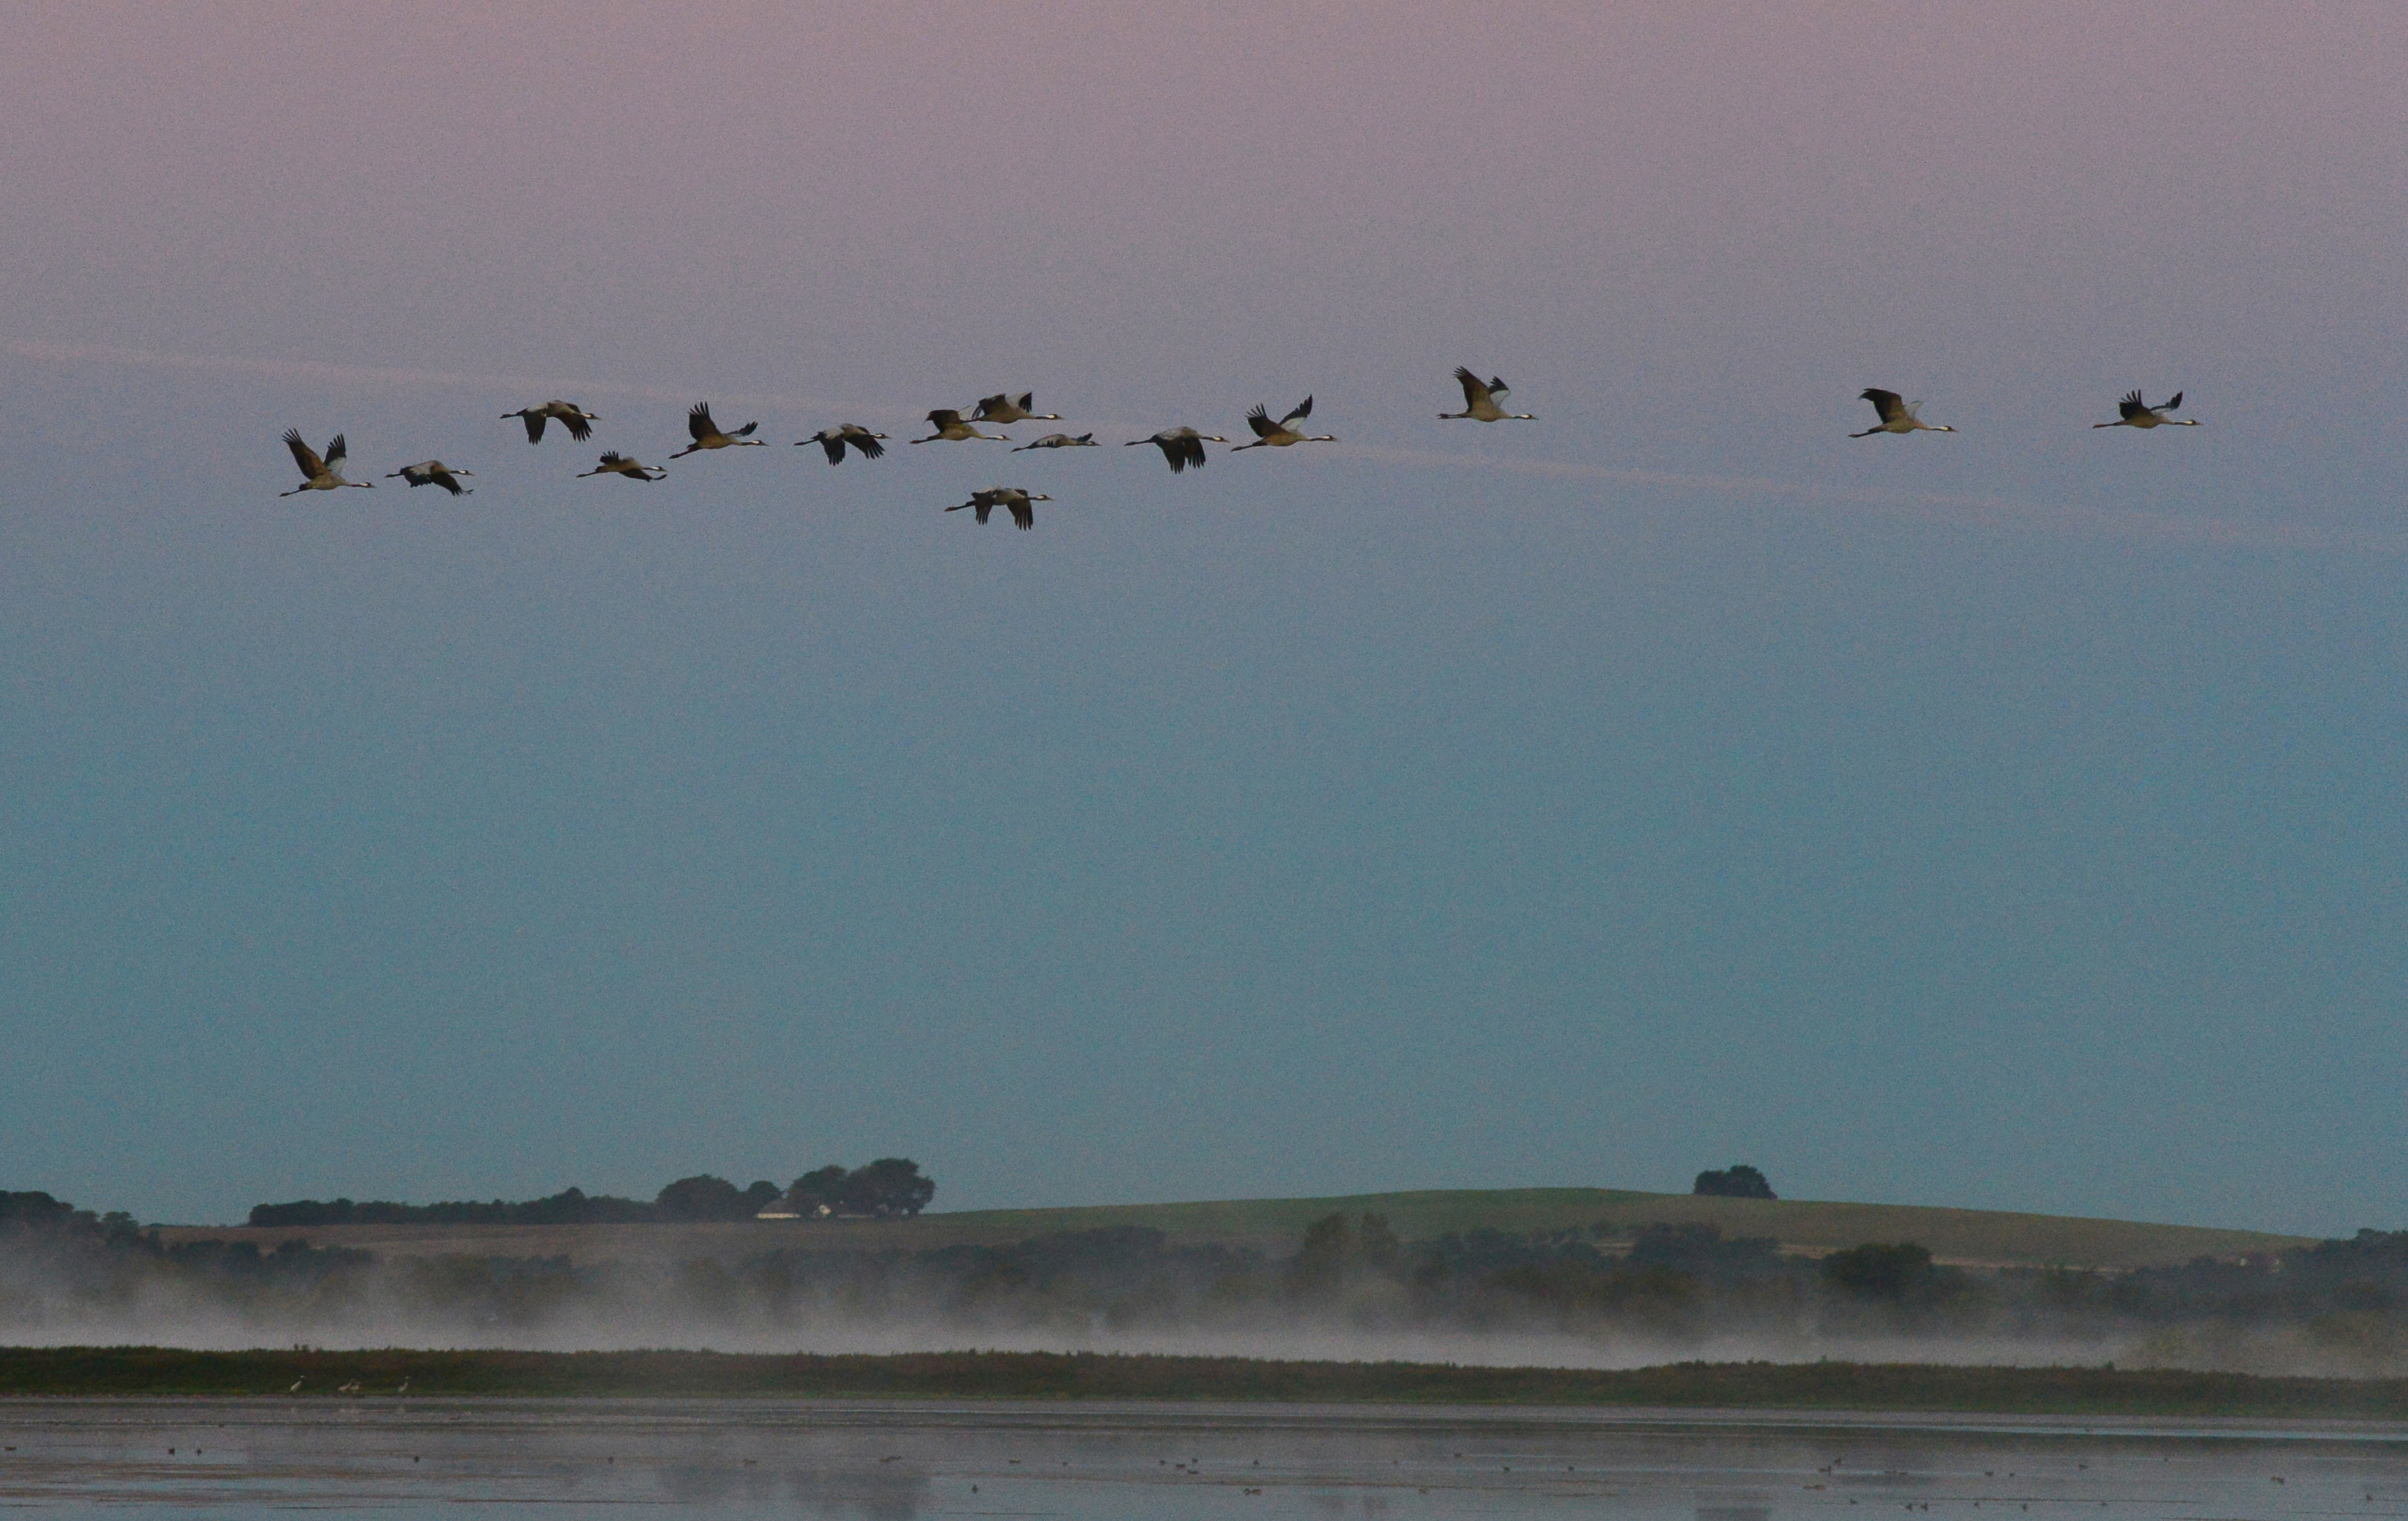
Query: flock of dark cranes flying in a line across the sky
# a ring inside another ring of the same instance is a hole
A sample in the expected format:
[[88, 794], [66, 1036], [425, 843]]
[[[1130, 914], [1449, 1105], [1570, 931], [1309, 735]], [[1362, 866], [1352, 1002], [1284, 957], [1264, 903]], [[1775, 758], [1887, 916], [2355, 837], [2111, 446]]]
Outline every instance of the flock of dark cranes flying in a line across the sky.
[[[1464, 409], [1440, 412], [1438, 414], [1440, 421], [1462, 421], [1462, 419], [1476, 424], [1539, 421], [1529, 412], [1505, 412], [1505, 397], [1510, 395], [1510, 387], [1505, 385], [1503, 378], [1481, 380], [1479, 373], [1474, 373], [1469, 366], [1459, 366], [1454, 371], [1454, 383], [1464, 387]], [[1955, 433], [1955, 428], [1950, 428], [1948, 424], [1926, 424], [1924, 419], [1919, 419], [1914, 414], [1917, 402], [1907, 402], [1895, 390], [1881, 390], [1878, 385], [1866, 387], [1861, 392], [1861, 400], [1873, 404], [1873, 414], [1881, 421], [1866, 428], [1864, 433], [1849, 433], [1849, 438], [1871, 438], [1873, 433]], [[2174, 392], [2174, 400], [2162, 402], [2158, 407], [2143, 402], [2141, 392], [2133, 390], [2126, 392], [2121, 402], [2117, 402], [2117, 412], [2121, 412], [2117, 421], [2090, 424], [2090, 426], [2093, 428], [2196, 428], [2199, 419], [2172, 416], [2179, 407], [2182, 407], [2179, 390]], [[520, 407], [518, 412], [501, 414], [503, 421], [510, 421], [513, 416], [527, 426], [527, 443], [542, 443], [544, 428], [549, 424], [561, 424], [563, 428], [568, 428], [571, 438], [585, 443], [588, 438], [592, 438], [592, 424], [602, 421], [600, 414], [585, 412], [583, 407], [576, 407], [571, 402], [544, 402], [542, 407]], [[1336, 443], [1334, 433], [1305, 433], [1303, 426], [1305, 419], [1310, 416], [1312, 416], [1312, 397], [1298, 402], [1279, 421], [1271, 421], [1269, 407], [1255, 407], [1252, 412], [1245, 414], [1245, 424], [1255, 431], [1255, 440], [1240, 443], [1228, 452], [1235, 455], [1243, 450], [1288, 448], [1296, 443]], [[1062, 414], [1035, 412], [1035, 392], [1023, 390], [1016, 397], [1009, 392], [997, 392], [992, 397], [982, 397], [978, 407], [970, 412], [970, 416], [961, 416], [961, 412], [951, 407], [939, 407], [937, 412], [929, 412], [927, 424], [934, 431], [927, 438], [913, 438], [910, 443], [963, 443], [970, 438], [985, 443], [1011, 443], [1009, 433], [980, 433], [978, 431], [980, 424], [1007, 426], [1026, 421], [1062, 421]], [[744, 424], [742, 428], [734, 431], [720, 428], [720, 424], [713, 421], [710, 416], [710, 402], [698, 402], [691, 412], [686, 412], [686, 433], [691, 433], [694, 443], [689, 443], [686, 448], [677, 450], [669, 457], [684, 460], [686, 455], [696, 455], [701, 450], [725, 450], [746, 445], [766, 448], [768, 445], [766, 438], [754, 438], [759, 428], [761, 428], [759, 421]], [[857, 452], [862, 460], [884, 457], [886, 438], [889, 438], [886, 433], [872, 433], [860, 424], [838, 424], [833, 428], [821, 428], [809, 438], [795, 440], [795, 448], [816, 443], [828, 455], [828, 464], [843, 464], [845, 450]], [[1221, 433], [1199, 433], [1197, 428], [1180, 426], [1180, 428], [1163, 428], [1161, 433], [1153, 433], [1149, 438], [1129, 438], [1125, 440], [1125, 448], [1137, 448], [1144, 443], [1151, 443], [1153, 448], [1163, 450], [1163, 460], [1170, 462], [1170, 474], [1180, 474], [1187, 467], [1202, 469], [1204, 445], [1228, 443], [1228, 438], [1223, 438]], [[301, 428], [287, 428], [284, 448], [294, 452], [294, 464], [301, 467], [301, 484], [279, 496], [299, 496], [303, 491], [335, 491], [342, 486], [368, 486], [368, 489], [376, 486], [376, 481], [347, 481], [342, 477], [342, 467], [349, 462], [349, 445], [344, 443], [342, 433], [335, 433], [332, 443], [325, 445], [325, 452], [318, 452], [301, 438]], [[1019, 455], [1026, 450], [1081, 450], [1081, 448], [1100, 448], [1100, 445], [1096, 443], [1093, 433], [1076, 433], [1076, 436], [1047, 433], [1033, 443], [1016, 445], [1011, 452]], [[600, 464], [595, 464], [588, 472], [580, 472], [578, 479], [600, 474], [616, 474], [631, 481], [660, 481], [669, 472], [667, 467], [645, 464], [633, 455], [621, 455], [616, 450], [609, 450], [602, 455]], [[441, 460], [419, 460], [417, 464], [405, 464], [395, 469], [385, 479], [388, 481], [402, 479], [409, 481], [412, 486], [441, 486], [453, 496], [467, 496], [470, 491], [474, 491], [474, 486], [462, 486], [460, 484], [462, 477], [474, 479], [474, 472], [453, 469]], [[973, 491], [970, 501], [954, 503], [951, 508], [946, 508], [946, 513], [970, 510], [975, 520], [985, 525], [987, 515], [995, 513], [995, 508], [1004, 508], [1016, 527], [1035, 527], [1035, 503], [1040, 501], [1052, 501], [1052, 498], [1045, 496], [1043, 491], [1028, 491], [1026, 486], [990, 486], [985, 491]]]

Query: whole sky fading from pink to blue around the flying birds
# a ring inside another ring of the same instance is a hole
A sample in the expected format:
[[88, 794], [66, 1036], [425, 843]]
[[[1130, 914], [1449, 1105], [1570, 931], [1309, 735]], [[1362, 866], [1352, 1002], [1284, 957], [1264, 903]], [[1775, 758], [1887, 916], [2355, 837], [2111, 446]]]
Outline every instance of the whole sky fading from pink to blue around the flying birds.
[[[94, 14], [0, 63], [0, 1184], [2401, 1223], [2394, 12]], [[1004, 387], [1115, 448], [790, 448]], [[691, 400], [773, 448], [571, 479]]]

